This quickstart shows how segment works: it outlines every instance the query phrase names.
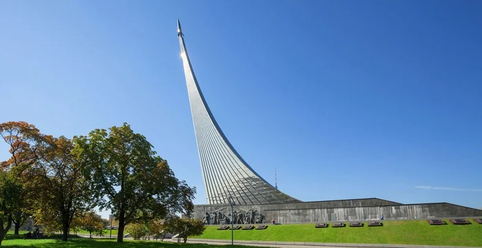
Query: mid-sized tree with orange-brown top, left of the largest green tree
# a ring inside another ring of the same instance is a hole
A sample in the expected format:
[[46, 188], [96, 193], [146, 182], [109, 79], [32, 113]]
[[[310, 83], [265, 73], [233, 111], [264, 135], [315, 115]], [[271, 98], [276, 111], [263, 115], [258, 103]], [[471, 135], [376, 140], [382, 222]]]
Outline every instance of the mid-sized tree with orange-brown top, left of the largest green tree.
[[74, 216], [90, 203], [87, 182], [72, 149], [74, 145], [68, 138], [44, 136], [41, 158], [28, 169], [28, 178], [39, 189], [36, 207], [43, 221], [61, 225], [63, 241], [67, 241]]

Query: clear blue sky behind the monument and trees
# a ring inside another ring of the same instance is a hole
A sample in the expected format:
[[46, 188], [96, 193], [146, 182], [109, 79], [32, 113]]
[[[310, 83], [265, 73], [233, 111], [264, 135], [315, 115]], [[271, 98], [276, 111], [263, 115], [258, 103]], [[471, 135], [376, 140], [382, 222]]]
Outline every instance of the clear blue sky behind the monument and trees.
[[206, 203], [179, 18], [220, 127], [273, 184], [277, 166], [283, 192], [482, 207], [481, 10], [482, 1], [1, 1], [0, 122], [67, 137], [127, 122]]

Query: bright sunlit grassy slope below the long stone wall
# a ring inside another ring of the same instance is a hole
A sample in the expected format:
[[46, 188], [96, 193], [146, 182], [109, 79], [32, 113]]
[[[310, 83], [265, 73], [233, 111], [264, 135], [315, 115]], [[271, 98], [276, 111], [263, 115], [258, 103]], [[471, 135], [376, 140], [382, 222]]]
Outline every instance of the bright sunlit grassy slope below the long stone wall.
[[[448, 223], [448, 220], [446, 220]], [[265, 230], [234, 230], [236, 240], [344, 242], [399, 245], [450, 245], [482, 247], [482, 225], [431, 226], [426, 220], [384, 221], [383, 227], [315, 228], [314, 224], [270, 225]], [[231, 239], [231, 230], [207, 227], [193, 238]]]

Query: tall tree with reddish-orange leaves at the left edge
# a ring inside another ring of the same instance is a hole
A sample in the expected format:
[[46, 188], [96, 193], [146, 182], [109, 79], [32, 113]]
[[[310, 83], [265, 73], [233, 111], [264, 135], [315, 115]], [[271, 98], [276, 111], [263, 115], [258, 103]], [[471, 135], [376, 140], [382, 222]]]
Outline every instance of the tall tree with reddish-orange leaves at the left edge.
[[[11, 157], [7, 161], [0, 162], [0, 167], [6, 171], [16, 174], [19, 177], [19, 183], [25, 184], [23, 172], [31, 165], [36, 163], [39, 152], [39, 141], [42, 134], [34, 126], [23, 121], [10, 121], [0, 124], [0, 136], [10, 147], [9, 153]], [[32, 205], [30, 192], [31, 190], [23, 185], [19, 190], [17, 198], [17, 209], [12, 214], [12, 223], [14, 224], [14, 234], [19, 234], [19, 229], [25, 220], [32, 214]]]

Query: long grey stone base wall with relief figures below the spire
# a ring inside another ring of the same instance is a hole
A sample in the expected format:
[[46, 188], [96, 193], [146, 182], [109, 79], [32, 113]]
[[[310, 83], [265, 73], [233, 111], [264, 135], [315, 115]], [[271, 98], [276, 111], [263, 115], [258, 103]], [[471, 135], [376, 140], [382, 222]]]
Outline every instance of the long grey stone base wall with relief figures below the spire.
[[[331, 200], [311, 203], [234, 206], [235, 223], [316, 223], [352, 220], [407, 220], [482, 216], [482, 210], [450, 203], [402, 205], [377, 198]], [[213, 215], [216, 214], [216, 220]], [[242, 216], [239, 218], [238, 216]], [[229, 224], [230, 205], [196, 205], [195, 217], [208, 219], [210, 225]]]

